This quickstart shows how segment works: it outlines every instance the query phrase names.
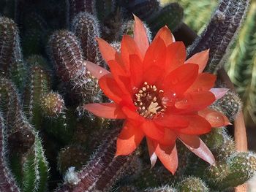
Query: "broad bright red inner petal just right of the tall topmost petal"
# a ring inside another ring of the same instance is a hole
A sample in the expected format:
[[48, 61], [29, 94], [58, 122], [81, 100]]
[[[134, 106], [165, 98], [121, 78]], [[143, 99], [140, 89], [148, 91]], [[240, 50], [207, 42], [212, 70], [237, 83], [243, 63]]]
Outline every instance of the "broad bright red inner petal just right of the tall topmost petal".
[[166, 47], [165, 42], [161, 38], [154, 39], [151, 45], [146, 51], [144, 61], [143, 61], [143, 70], [152, 69], [152, 66], [158, 66], [158, 68], [164, 69], [165, 67], [165, 55]]

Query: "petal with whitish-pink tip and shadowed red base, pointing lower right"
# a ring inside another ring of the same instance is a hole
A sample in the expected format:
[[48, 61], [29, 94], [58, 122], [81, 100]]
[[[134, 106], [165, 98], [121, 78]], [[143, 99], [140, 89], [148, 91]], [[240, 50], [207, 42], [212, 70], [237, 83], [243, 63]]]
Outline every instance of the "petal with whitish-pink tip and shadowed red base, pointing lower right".
[[197, 136], [192, 135], [179, 135], [181, 142], [188, 147], [195, 155], [202, 158], [204, 161], [211, 165], [216, 163], [214, 155], [208, 149], [206, 144]]

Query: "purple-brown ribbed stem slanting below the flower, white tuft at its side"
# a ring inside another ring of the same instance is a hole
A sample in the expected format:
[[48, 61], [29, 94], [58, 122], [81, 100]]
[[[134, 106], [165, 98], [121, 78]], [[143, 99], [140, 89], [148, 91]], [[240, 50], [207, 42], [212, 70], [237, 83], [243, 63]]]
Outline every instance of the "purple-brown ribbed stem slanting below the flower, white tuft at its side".
[[[72, 173], [76, 175], [75, 182], [70, 183], [69, 180], [66, 180], [57, 191], [108, 191], [132, 161], [131, 155], [114, 158], [119, 131], [120, 129], [116, 129], [106, 138], [91, 161], [80, 172]], [[67, 172], [65, 177], [69, 178], [69, 174], [70, 172]]]

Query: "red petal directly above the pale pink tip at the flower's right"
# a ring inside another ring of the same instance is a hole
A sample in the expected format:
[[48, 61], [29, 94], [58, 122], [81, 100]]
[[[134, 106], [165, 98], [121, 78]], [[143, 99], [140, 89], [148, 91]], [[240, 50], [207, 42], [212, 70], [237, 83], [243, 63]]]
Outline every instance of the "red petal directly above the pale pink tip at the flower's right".
[[195, 82], [188, 88], [187, 93], [192, 91], [208, 91], [214, 87], [216, 75], [208, 73], [198, 74]]

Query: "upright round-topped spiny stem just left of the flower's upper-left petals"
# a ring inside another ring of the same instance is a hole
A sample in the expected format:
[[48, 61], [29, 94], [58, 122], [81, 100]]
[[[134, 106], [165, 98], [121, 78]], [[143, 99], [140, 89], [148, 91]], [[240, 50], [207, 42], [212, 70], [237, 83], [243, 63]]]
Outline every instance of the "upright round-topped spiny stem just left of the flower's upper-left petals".
[[72, 23], [72, 31], [78, 37], [86, 60], [99, 63], [100, 53], [97, 37], [100, 37], [99, 22], [89, 12], [80, 12]]

